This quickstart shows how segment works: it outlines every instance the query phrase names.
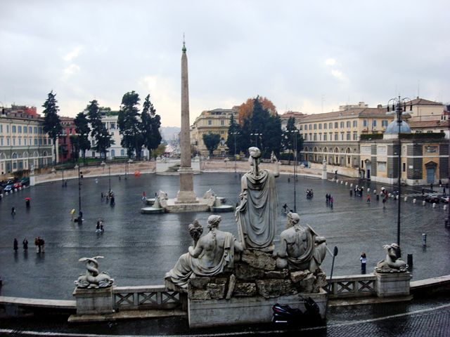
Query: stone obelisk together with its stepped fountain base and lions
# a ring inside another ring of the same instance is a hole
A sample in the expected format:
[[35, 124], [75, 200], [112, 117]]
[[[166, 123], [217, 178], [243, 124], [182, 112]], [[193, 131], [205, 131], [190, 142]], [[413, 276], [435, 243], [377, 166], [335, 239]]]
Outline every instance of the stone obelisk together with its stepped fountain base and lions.
[[[233, 211], [233, 206], [221, 204], [221, 198], [199, 198], [195, 195], [193, 187], [193, 169], [191, 166], [191, 137], [189, 126], [189, 84], [188, 84], [188, 57], [186, 45], [183, 42], [181, 55], [181, 165], [178, 170], [180, 183], [175, 199], [159, 198], [159, 205], [143, 207], [141, 213], [166, 212], [196, 212], [196, 211]], [[164, 192], [163, 192], [164, 193]], [[158, 207], [155, 207], [158, 206]]]

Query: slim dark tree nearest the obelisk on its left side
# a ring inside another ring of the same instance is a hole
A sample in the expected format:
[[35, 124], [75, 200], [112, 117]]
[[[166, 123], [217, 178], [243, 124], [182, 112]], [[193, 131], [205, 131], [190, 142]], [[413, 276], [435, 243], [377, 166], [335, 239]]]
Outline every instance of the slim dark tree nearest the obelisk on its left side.
[[[147, 147], [150, 153], [160, 146], [162, 140], [160, 126], [160, 115], [156, 114], [155, 107], [150, 102], [150, 95], [147, 95], [146, 100], [143, 102], [141, 114], [141, 132], [143, 135], [143, 145]], [[150, 160], [150, 158], [148, 159]]]

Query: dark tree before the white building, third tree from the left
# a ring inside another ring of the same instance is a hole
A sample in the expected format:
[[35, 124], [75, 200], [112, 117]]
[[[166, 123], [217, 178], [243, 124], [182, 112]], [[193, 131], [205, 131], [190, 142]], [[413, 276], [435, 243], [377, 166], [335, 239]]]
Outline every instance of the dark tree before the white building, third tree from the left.
[[98, 108], [97, 100], [89, 102], [86, 109], [89, 124], [91, 124], [91, 137], [95, 140], [93, 148], [100, 152], [101, 157], [106, 158], [106, 151], [114, 144], [114, 140], [111, 139], [110, 133], [108, 133], [106, 126], [101, 121], [101, 112]]

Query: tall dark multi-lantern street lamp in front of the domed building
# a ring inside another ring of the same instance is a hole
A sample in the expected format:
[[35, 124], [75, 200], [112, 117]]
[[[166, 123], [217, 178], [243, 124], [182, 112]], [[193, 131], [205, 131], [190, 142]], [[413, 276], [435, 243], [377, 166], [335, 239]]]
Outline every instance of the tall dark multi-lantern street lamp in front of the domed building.
[[[399, 180], [398, 180], [398, 194], [397, 194], [397, 245], [400, 246], [400, 209], [401, 209], [401, 138], [400, 138], [400, 133], [401, 133], [401, 124], [403, 122], [403, 114], [406, 113], [406, 104], [409, 103], [410, 104], [410, 110], [412, 110], [412, 105], [411, 105], [411, 99], [409, 98], [401, 98], [400, 96], [397, 98], [391, 98], [388, 102], [387, 102], [387, 112], [390, 111], [390, 103], [392, 102], [392, 112], [395, 112], [396, 118], [397, 118], [397, 125], [399, 126], [399, 150], [398, 150], [398, 161], [399, 161], [399, 165], [398, 165], [398, 175], [399, 175]], [[400, 249], [398, 249], [397, 251], [397, 257], [401, 256], [401, 251]]]

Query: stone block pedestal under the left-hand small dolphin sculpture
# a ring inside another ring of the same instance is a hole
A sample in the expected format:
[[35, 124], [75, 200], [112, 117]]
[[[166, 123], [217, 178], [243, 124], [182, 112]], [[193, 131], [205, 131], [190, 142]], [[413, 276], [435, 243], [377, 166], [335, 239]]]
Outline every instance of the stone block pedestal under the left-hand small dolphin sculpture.
[[110, 314], [113, 309], [113, 286], [99, 289], [75, 288], [77, 315]]

